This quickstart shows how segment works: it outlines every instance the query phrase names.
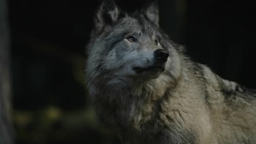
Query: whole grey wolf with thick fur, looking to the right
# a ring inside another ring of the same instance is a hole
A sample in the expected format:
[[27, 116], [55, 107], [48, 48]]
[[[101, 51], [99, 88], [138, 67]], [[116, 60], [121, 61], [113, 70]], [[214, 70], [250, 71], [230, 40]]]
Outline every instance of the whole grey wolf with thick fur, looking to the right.
[[156, 1], [132, 14], [103, 1], [94, 23], [86, 84], [122, 143], [256, 143], [256, 91], [191, 61], [160, 29]]

